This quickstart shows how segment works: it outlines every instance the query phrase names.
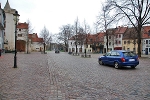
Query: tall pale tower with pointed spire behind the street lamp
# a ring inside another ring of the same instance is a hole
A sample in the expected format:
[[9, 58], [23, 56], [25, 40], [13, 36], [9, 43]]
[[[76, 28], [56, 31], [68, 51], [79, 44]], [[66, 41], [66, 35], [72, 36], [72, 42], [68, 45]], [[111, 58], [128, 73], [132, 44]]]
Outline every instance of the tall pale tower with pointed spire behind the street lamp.
[[7, 44], [4, 45], [5, 50], [15, 50], [15, 21], [14, 21], [14, 13], [16, 9], [12, 9], [7, 0], [4, 11], [6, 15], [5, 19], [5, 41], [8, 41]]

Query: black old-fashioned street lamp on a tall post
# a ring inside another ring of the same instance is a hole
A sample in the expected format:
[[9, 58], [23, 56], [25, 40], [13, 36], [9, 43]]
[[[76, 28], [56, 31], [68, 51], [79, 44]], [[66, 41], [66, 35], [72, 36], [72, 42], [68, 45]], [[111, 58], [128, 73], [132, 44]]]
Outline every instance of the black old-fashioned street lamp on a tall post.
[[18, 22], [18, 16], [20, 16], [18, 14], [18, 11], [15, 11], [15, 14], [14, 15], [14, 21], [15, 21], [15, 55], [14, 55], [14, 68], [17, 68], [17, 57], [16, 57], [16, 54], [17, 54], [17, 50], [16, 50], [16, 42], [17, 42], [17, 22]]

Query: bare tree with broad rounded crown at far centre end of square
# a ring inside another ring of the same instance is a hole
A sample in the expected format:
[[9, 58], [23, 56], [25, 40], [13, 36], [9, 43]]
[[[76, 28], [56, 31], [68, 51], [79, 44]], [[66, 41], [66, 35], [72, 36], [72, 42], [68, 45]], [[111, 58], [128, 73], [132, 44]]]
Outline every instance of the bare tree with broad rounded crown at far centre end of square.
[[65, 51], [68, 51], [68, 40], [73, 36], [73, 26], [68, 24], [60, 28], [58, 39], [65, 44]]

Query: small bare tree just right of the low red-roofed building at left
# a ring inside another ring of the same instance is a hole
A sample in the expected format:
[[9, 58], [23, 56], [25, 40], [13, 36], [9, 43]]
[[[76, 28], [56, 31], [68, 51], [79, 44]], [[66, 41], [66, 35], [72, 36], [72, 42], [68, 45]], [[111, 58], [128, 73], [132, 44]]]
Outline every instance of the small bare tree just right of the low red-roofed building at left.
[[43, 46], [44, 46], [44, 54], [45, 54], [46, 44], [48, 44], [51, 41], [51, 39], [52, 39], [48, 29], [45, 26], [42, 29], [41, 33], [40, 33], [40, 37], [43, 38]]

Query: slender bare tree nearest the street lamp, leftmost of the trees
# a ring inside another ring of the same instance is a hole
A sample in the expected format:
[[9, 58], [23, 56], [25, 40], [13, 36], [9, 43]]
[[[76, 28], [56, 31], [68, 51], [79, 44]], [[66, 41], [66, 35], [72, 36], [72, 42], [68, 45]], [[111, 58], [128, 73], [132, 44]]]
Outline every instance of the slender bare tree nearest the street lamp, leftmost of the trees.
[[26, 38], [26, 41], [27, 41], [27, 54], [29, 53], [29, 34], [33, 32], [33, 28], [32, 28], [32, 25], [31, 25], [31, 22], [30, 20], [28, 19], [27, 20], [27, 24], [28, 24], [28, 29], [27, 29], [27, 38]]

